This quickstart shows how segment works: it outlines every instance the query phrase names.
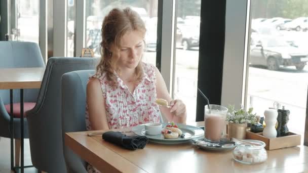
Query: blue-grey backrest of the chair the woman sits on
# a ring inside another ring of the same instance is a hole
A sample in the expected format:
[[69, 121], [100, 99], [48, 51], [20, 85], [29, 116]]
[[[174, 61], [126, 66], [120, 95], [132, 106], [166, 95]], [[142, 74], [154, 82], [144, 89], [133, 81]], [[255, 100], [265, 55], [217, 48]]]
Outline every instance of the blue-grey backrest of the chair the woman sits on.
[[64, 144], [66, 132], [86, 131], [86, 85], [94, 70], [65, 73], [62, 76], [62, 136], [67, 172], [86, 172], [85, 161]]

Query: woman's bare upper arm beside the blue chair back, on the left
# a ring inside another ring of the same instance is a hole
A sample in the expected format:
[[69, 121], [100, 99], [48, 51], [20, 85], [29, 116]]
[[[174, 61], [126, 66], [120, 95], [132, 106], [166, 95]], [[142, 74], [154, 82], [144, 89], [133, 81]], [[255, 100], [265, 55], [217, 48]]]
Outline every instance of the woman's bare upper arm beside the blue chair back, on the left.
[[91, 78], [87, 84], [89, 120], [93, 131], [109, 129], [106, 117], [105, 99], [99, 79]]

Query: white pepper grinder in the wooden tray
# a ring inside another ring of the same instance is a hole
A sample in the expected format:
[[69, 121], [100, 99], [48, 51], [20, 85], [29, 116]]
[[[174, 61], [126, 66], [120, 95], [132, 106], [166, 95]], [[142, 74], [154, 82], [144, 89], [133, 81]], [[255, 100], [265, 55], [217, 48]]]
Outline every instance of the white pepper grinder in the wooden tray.
[[263, 129], [263, 136], [266, 138], [276, 138], [277, 131], [275, 124], [277, 122], [278, 112], [276, 109], [267, 109], [264, 111], [264, 121], [266, 123]]

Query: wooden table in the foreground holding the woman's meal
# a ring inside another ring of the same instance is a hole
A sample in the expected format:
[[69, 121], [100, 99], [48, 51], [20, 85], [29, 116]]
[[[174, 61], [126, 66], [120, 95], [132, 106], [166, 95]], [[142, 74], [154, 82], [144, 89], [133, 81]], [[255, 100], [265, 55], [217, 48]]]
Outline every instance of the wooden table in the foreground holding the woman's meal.
[[[189, 123], [203, 125], [204, 122]], [[104, 131], [95, 131], [104, 132]], [[88, 137], [90, 132], [65, 134], [65, 145], [103, 172], [303, 172], [308, 171], [308, 147], [267, 150], [268, 159], [246, 165], [232, 158], [232, 151], [213, 152], [189, 144], [148, 143], [144, 149], [130, 151]]]

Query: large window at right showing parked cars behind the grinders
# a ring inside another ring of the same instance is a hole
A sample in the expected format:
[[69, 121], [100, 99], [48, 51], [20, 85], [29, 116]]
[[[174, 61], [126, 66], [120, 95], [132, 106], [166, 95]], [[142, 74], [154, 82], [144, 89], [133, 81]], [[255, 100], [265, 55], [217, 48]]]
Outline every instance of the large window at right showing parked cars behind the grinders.
[[304, 133], [308, 85], [308, 2], [251, 1], [247, 105], [263, 116], [279, 102], [290, 131]]

